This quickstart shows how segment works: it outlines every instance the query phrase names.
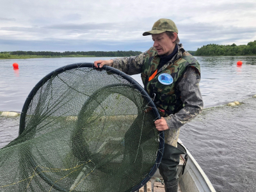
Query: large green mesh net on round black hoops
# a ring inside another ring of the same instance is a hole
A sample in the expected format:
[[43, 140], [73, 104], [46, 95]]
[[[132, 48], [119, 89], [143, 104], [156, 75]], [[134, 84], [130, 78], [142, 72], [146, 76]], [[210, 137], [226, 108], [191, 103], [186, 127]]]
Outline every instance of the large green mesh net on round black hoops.
[[161, 162], [158, 118], [123, 72], [58, 68], [29, 93], [19, 137], [0, 150], [0, 191], [136, 191]]

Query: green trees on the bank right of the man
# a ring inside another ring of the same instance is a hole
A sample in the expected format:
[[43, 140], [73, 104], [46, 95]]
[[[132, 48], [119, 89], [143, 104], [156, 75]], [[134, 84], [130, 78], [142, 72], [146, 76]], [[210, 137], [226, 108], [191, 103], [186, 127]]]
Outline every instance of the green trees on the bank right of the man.
[[198, 48], [195, 56], [243, 56], [256, 55], [256, 40], [247, 45], [217, 45], [208, 44]]

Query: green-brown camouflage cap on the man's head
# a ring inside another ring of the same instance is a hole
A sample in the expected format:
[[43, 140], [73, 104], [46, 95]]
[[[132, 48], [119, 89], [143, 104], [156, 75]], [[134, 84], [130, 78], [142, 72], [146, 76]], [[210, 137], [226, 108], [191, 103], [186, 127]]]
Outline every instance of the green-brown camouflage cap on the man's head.
[[146, 31], [142, 35], [152, 35], [152, 34], [159, 34], [165, 31], [172, 31], [178, 33], [178, 28], [176, 27], [175, 23], [170, 19], [159, 19], [157, 22], [154, 23], [151, 31]]

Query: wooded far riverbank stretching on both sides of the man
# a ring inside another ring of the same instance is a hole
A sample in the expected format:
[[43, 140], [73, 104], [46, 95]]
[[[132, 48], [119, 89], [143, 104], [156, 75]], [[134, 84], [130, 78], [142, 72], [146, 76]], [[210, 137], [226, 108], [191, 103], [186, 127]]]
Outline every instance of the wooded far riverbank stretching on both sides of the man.
[[[256, 55], [256, 40], [247, 45], [208, 44], [196, 51], [188, 51], [194, 56], [250, 56]], [[0, 59], [54, 58], [54, 57], [124, 57], [136, 56], [140, 51], [10, 51], [0, 52]]]

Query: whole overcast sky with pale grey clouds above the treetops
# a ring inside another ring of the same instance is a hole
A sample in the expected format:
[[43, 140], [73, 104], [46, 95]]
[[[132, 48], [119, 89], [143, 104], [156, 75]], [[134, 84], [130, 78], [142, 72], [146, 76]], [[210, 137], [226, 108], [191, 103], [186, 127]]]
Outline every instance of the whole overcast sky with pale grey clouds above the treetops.
[[147, 51], [161, 18], [187, 51], [256, 40], [256, 0], [0, 0], [0, 51]]

